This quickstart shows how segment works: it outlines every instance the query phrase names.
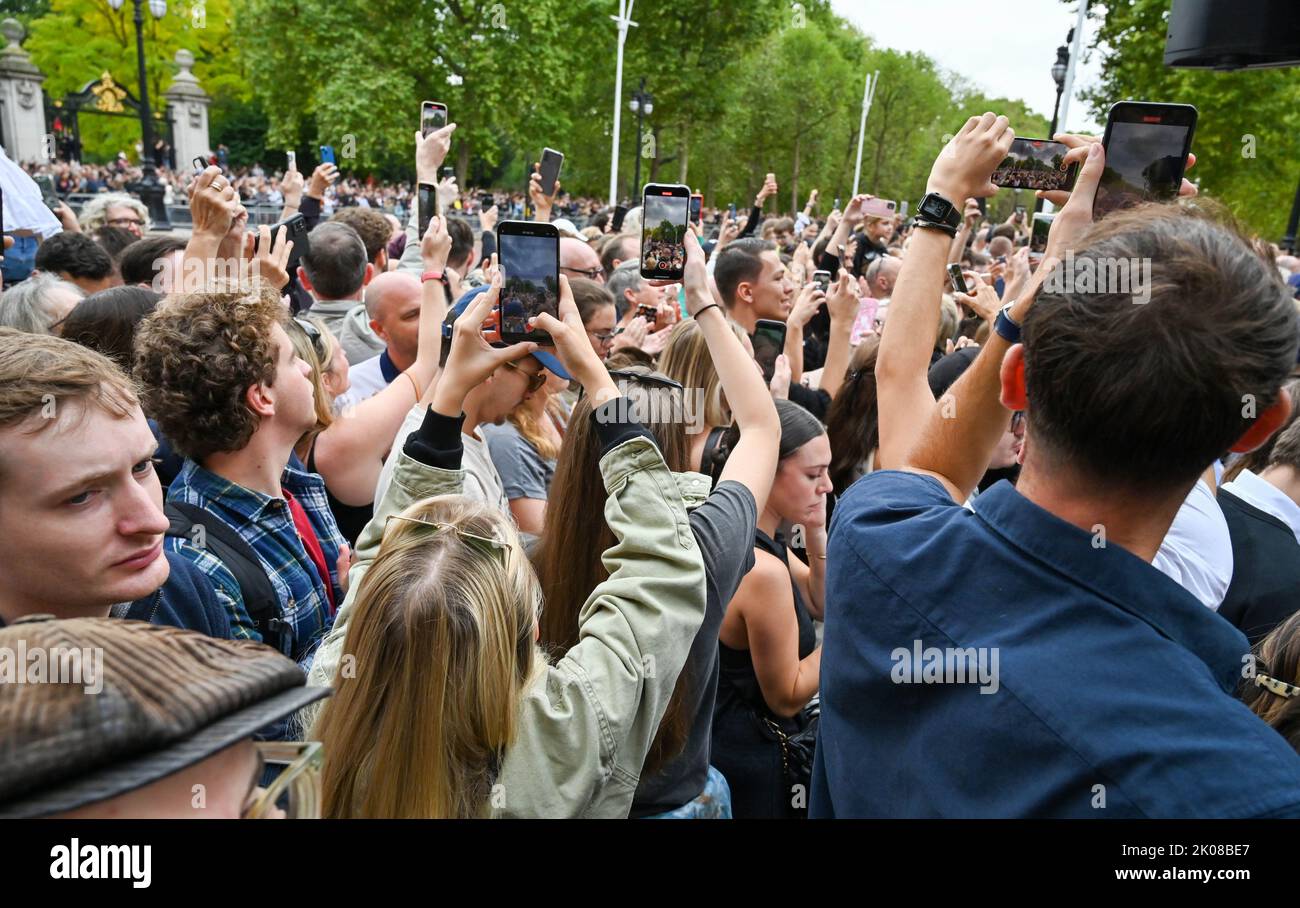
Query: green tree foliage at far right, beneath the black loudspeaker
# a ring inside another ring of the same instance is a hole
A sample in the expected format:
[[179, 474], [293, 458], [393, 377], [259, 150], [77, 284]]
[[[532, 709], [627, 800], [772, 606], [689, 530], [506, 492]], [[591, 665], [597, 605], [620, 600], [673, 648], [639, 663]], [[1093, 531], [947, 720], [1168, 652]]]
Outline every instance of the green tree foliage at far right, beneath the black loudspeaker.
[[1084, 94], [1096, 120], [1118, 100], [1195, 104], [1200, 112], [1188, 178], [1252, 230], [1278, 239], [1300, 180], [1300, 78], [1295, 70], [1216, 73], [1164, 65], [1167, 0], [1110, 3], [1097, 20], [1093, 52], [1101, 85]]

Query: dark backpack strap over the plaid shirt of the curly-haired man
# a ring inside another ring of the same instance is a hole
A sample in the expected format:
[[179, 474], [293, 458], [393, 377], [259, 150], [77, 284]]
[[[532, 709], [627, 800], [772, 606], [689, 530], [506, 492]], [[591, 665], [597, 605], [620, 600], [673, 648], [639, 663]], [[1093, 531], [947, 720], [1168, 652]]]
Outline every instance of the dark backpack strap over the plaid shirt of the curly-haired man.
[[292, 652], [292, 626], [281, 618], [280, 596], [257, 558], [234, 527], [198, 505], [169, 501], [164, 510], [168, 536], [194, 544], [194, 527], [203, 527], [204, 545], [211, 555], [226, 566], [239, 584], [244, 610], [252, 619], [263, 643], [289, 656]]

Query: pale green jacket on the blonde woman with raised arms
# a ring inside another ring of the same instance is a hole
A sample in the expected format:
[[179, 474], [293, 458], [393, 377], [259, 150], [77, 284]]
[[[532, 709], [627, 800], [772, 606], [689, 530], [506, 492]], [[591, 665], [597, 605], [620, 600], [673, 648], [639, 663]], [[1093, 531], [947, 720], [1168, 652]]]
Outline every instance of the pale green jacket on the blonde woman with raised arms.
[[[358, 540], [348, 594], [321, 644], [309, 684], [333, 683], [356, 591], [390, 514], [458, 494], [463, 472], [404, 453], [393, 484]], [[659, 450], [623, 442], [601, 461], [616, 537], [610, 578], [578, 614], [580, 639], [534, 676], [519, 738], [493, 790], [494, 817], [627, 817], [646, 752], [705, 614], [705, 566], [686, 519], [686, 497]], [[538, 658], [542, 658], [541, 654]], [[308, 725], [311, 722], [308, 717]]]

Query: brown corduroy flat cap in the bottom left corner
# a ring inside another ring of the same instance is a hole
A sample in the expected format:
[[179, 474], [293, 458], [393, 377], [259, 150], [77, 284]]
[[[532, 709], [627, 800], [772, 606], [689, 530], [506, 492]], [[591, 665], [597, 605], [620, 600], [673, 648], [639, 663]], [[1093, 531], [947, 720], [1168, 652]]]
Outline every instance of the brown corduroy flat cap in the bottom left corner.
[[[125, 795], [332, 692], [255, 640], [120, 618], [23, 618], [0, 628], [0, 653], [23, 675], [0, 676], [0, 817]], [[51, 669], [39, 682], [32, 660]]]

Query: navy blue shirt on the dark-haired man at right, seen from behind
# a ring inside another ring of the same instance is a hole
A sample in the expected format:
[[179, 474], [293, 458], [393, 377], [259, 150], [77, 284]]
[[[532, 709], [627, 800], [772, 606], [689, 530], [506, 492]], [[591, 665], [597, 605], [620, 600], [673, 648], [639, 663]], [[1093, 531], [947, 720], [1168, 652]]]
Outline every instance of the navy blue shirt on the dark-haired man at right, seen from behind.
[[[1245, 637], [1098, 542], [1005, 481], [970, 511], [928, 476], [858, 480], [831, 527], [810, 814], [1300, 816], [1300, 756], [1232, 696]], [[927, 678], [927, 649], [988, 657], [996, 684]]]

